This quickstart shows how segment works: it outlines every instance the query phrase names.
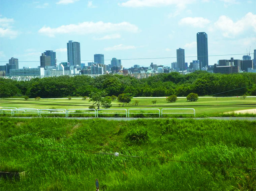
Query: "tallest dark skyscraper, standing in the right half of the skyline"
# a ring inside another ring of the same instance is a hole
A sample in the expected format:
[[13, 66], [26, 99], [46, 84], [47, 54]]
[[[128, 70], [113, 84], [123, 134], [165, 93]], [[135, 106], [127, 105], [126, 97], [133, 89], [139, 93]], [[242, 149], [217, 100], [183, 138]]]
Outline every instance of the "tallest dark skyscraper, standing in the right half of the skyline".
[[202, 67], [208, 66], [208, 38], [205, 32], [196, 34], [197, 60]]

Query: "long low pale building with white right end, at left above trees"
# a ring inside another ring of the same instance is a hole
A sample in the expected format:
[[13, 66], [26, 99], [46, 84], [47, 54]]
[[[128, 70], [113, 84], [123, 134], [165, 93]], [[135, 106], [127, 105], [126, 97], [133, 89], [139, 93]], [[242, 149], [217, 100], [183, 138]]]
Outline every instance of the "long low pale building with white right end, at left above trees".
[[10, 76], [44, 76], [44, 68], [10, 69]]

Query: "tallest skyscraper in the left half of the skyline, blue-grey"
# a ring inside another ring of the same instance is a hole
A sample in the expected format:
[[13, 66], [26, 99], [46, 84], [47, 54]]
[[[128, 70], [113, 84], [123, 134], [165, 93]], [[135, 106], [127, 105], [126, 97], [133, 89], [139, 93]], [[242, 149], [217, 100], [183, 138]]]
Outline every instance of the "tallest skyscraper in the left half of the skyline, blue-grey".
[[71, 66], [81, 65], [79, 42], [68, 41], [67, 53], [68, 53], [68, 62]]

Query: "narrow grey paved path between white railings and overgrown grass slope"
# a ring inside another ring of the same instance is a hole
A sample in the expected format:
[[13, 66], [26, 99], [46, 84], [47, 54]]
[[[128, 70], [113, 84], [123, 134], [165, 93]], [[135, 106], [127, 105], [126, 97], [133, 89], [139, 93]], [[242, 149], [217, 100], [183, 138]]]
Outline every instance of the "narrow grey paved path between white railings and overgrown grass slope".
[[[186, 120], [186, 119], [195, 119], [195, 120], [240, 120], [240, 121], [256, 121], [256, 117], [205, 117], [205, 118], [135, 118], [135, 117], [9, 117], [9, 118], [23, 118], [23, 119], [31, 119], [31, 118], [63, 118], [68, 120], [91, 120], [91, 119], [102, 119], [108, 121], [132, 121], [132, 120], [139, 120], [139, 119], [147, 119], [147, 120], [166, 120], [166, 119], [178, 119], [178, 120]], [[1, 120], [1, 117], [0, 117]]]

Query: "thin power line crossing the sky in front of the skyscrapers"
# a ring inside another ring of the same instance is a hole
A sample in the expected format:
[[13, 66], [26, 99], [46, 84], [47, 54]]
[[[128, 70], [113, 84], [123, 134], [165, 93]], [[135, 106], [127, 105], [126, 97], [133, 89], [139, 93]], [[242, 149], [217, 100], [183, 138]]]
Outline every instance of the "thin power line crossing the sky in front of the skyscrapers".
[[[219, 55], [208, 55], [207, 57], [211, 56], [234, 56], [234, 55], [245, 55], [246, 53], [243, 54], [219, 54]], [[206, 56], [185, 56], [185, 58], [194, 58], [194, 57], [206, 57]], [[146, 59], [169, 59], [169, 58], [177, 58], [175, 57], [156, 57], [156, 58], [124, 58], [120, 60], [146, 60]], [[104, 61], [109, 61], [112, 59], [104, 59]], [[81, 61], [94, 61], [94, 60], [81, 60]], [[0, 62], [8, 62], [8, 61], [0, 61]], [[19, 62], [40, 62], [40, 61], [19, 61]], [[67, 60], [58, 60], [58, 62], [67, 62]]]

